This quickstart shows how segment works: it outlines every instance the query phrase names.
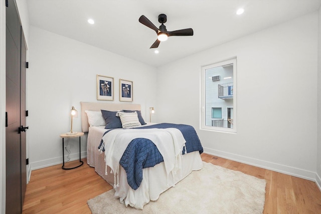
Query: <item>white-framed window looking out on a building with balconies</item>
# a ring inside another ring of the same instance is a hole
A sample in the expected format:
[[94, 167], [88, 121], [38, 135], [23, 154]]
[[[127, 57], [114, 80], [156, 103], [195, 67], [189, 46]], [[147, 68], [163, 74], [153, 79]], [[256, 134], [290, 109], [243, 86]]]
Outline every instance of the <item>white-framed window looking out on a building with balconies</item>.
[[236, 58], [202, 67], [201, 129], [236, 132]]

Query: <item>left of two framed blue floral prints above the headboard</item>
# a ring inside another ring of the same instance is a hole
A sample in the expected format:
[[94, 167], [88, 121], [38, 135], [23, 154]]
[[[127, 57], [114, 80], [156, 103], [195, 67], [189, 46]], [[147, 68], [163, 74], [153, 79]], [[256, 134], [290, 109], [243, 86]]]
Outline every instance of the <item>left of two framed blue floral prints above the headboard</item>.
[[114, 100], [114, 78], [97, 74], [97, 100]]

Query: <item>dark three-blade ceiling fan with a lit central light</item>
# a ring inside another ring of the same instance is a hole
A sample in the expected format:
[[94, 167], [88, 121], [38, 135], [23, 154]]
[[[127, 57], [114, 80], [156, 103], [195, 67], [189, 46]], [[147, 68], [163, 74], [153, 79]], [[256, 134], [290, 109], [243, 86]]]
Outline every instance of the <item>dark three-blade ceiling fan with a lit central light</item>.
[[174, 31], [167, 31], [166, 26], [164, 23], [167, 21], [167, 15], [166, 14], [159, 14], [158, 15], [158, 21], [159, 23], [162, 23], [161, 26], [159, 26], [159, 29], [148, 19], [146, 16], [141, 15], [139, 17], [139, 22], [146, 25], [147, 27], [155, 30], [157, 33], [157, 39], [156, 41], [149, 47], [149, 48], [156, 48], [158, 47], [159, 43], [161, 41], [166, 41], [169, 36], [172, 35], [193, 35], [193, 29], [192, 28], [186, 28], [186, 29], [178, 29]]

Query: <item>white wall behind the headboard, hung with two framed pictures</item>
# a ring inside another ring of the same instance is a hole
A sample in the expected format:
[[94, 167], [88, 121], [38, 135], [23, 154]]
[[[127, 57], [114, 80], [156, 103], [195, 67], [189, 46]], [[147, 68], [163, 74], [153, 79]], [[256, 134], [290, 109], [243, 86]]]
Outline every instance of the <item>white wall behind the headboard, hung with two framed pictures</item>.
[[[106, 41], [108, 42], [108, 41]], [[155, 106], [156, 68], [97, 47], [30, 26], [29, 45], [29, 146], [32, 169], [62, 163], [61, 133], [70, 130], [69, 111], [80, 113], [80, 101], [96, 102], [96, 75], [114, 77], [114, 101], [119, 103], [119, 78], [133, 81], [133, 103], [141, 104], [148, 120]], [[81, 118], [73, 120], [81, 131]], [[78, 142], [78, 138], [73, 138]], [[81, 153], [86, 155], [87, 135]], [[72, 140], [72, 139], [71, 139]], [[78, 143], [70, 143], [79, 157]]]

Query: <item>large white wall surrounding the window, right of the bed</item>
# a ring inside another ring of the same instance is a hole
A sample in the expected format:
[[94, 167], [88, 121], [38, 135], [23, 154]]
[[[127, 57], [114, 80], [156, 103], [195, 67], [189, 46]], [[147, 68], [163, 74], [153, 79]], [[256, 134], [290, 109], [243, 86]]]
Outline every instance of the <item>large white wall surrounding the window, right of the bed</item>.
[[[205, 152], [314, 179], [317, 13], [157, 69], [158, 122], [193, 125]], [[200, 130], [201, 66], [237, 56], [237, 134]]]

